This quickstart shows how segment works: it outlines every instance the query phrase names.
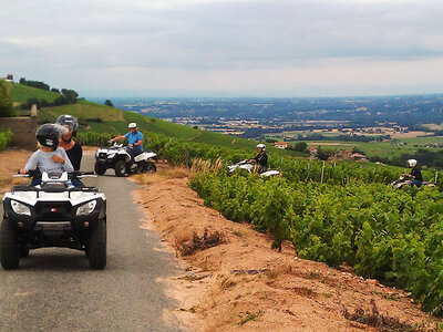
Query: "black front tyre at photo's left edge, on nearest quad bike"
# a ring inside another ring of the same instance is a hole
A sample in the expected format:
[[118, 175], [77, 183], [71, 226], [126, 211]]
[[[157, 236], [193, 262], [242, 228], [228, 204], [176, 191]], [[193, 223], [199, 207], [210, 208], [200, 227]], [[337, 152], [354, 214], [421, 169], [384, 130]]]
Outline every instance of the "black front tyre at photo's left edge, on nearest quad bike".
[[3, 219], [0, 226], [0, 262], [6, 270], [17, 269], [20, 262], [17, 230], [8, 219]]

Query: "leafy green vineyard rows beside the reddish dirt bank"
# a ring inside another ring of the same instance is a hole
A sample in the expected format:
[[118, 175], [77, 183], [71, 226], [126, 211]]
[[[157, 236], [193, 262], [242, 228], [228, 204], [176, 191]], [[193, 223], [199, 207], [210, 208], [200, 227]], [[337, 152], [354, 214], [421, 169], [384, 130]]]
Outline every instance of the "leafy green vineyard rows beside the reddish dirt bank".
[[[81, 136], [83, 144], [109, 139], [90, 135]], [[190, 186], [207, 206], [269, 232], [274, 248], [290, 240], [300, 258], [332, 267], [347, 262], [356, 273], [404, 288], [424, 310], [443, 314], [443, 183], [435, 170], [423, 176], [436, 178], [436, 188], [401, 190], [389, 184], [406, 169], [289, 156], [269, 158], [281, 177], [228, 176], [227, 163], [254, 152], [148, 136], [146, 145], [169, 164], [198, 166]]]

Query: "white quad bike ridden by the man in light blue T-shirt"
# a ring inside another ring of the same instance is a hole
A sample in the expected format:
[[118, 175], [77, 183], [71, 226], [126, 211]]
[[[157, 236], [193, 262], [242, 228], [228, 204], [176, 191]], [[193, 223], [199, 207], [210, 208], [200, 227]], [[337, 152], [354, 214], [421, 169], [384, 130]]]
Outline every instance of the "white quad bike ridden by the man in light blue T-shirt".
[[100, 147], [95, 153], [94, 170], [97, 175], [106, 173], [107, 168], [113, 168], [116, 176], [125, 176], [131, 173], [156, 172], [155, 162], [157, 154], [152, 151], [144, 151], [134, 158], [130, 167], [131, 155], [123, 144], [114, 143], [111, 147]]

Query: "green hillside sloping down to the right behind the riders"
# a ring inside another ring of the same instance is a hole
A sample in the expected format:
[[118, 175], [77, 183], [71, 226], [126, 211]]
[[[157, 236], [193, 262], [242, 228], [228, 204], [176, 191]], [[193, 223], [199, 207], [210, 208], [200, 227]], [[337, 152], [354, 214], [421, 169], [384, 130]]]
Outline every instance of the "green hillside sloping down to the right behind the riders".
[[[25, 102], [30, 97], [52, 102], [59, 94], [21, 84], [11, 85], [11, 96], [14, 103]], [[195, 129], [188, 126], [169, 123], [159, 118], [147, 117], [140, 113], [123, 111], [106, 105], [79, 100], [76, 104], [55, 107], [43, 107], [39, 111], [39, 122], [54, 122], [61, 114], [71, 114], [79, 120], [80, 131], [123, 134], [127, 123], [136, 122], [143, 132], [164, 134], [169, 137], [195, 143], [207, 143], [224, 147], [243, 147], [254, 149], [257, 142], [218, 133]], [[275, 149], [282, 155], [300, 155], [301, 153]]]

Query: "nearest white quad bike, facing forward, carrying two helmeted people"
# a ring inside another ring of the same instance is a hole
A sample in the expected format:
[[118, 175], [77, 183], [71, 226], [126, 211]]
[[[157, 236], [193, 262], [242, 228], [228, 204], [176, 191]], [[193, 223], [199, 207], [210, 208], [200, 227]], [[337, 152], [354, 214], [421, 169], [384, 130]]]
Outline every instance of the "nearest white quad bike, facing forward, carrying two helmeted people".
[[[4, 194], [0, 227], [3, 269], [17, 269], [30, 249], [44, 247], [82, 250], [92, 269], [105, 268], [106, 197], [96, 187], [76, 188], [70, 181], [91, 174], [43, 173], [41, 185], [14, 186]], [[31, 170], [16, 177], [39, 175]]]

